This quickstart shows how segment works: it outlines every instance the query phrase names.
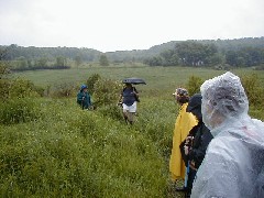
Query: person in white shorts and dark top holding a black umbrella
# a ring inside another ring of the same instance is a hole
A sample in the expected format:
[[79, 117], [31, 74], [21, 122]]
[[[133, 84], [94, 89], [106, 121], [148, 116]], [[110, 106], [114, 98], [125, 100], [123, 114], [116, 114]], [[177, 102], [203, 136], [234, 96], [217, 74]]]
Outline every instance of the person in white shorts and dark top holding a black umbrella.
[[119, 102], [118, 105], [123, 107], [123, 118], [125, 123], [133, 124], [134, 122], [134, 116], [136, 113], [136, 102], [139, 102], [139, 92], [135, 89], [135, 87], [132, 86], [139, 85], [139, 84], [145, 84], [144, 80], [140, 78], [127, 78], [123, 79], [123, 84], [125, 87], [120, 94]]

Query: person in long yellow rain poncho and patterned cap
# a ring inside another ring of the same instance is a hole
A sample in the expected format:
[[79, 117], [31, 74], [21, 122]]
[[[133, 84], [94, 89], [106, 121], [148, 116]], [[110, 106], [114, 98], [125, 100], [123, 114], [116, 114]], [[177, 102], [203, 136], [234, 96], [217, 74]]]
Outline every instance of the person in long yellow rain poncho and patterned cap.
[[188, 106], [189, 96], [185, 88], [177, 88], [175, 94], [175, 99], [180, 106], [178, 116], [175, 122], [174, 136], [173, 136], [173, 148], [169, 160], [169, 172], [172, 174], [172, 180], [185, 178], [186, 166], [182, 158], [179, 145], [187, 138], [189, 131], [198, 124], [196, 117], [186, 112]]

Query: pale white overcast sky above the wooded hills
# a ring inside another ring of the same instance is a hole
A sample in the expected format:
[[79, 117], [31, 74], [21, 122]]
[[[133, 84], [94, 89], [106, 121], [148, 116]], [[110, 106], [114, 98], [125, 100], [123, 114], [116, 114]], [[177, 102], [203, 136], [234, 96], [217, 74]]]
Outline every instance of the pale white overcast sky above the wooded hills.
[[0, 0], [0, 45], [147, 50], [264, 36], [264, 0]]

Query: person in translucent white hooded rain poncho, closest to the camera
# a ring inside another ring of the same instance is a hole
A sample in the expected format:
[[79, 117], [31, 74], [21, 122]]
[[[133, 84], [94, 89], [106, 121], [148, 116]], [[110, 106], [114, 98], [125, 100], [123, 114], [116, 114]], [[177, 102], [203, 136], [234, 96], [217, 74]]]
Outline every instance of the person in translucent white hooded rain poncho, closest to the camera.
[[248, 114], [240, 78], [228, 72], [201, 87], [202, 120], [215, 139], [198, 169], [191, 198], [264, 197], [264, 123]]

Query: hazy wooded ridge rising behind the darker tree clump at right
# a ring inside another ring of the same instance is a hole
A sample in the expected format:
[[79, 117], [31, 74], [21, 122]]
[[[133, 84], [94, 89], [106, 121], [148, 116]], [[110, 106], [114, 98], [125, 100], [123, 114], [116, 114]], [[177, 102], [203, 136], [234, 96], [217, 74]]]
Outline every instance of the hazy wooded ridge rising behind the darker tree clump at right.
[[[162, 56], [162, 59], [167, 59], [169, 57], [169, 54], [170, 56], [173, 56], [173, 53], [170, 51], [175, 51], [175, 48], [182, 43], [191, 43], [191, 42], [204, 44], [206, 46], [208, 45], [215, 46], [218, 53], [221, 55], [221, 57], [223, 57], [223, 63], [226, 58], [224, 54], [227, 52], [237, 53], [242, 48], [256, 48], [256, 50], [264, 48], [264, 37], [244, 37], [244, 38], [237, 38], [237, 40], [170, 41], [167, 43], [152, 46], [148, 50], [118, 51], [118, 52], [110, 52], [106, 54], [111, 62], [147, 63], [148, 61], [154, 61], [154, 62], [155, 59], [161, 61], [161, 56]], [[175, 58], [176, 57], [173, 57], [173, 58], [169, 57], [169, 61], [167, 61], [166, 65], [170, 64], [170, 62], [175, 62]], [[219, 57], [213, 57], [212, 59], [215, 58], [219, 58]]]

